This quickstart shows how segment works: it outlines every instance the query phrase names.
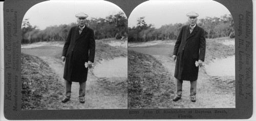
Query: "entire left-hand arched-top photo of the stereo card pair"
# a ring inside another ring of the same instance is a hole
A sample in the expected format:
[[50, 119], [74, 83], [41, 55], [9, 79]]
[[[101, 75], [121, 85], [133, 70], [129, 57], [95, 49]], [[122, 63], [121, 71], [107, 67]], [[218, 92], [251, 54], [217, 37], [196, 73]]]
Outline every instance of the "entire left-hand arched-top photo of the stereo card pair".
[[127, 24], [106, 1], [32, 6], [21, 25], [22, 110], [127, 109]]

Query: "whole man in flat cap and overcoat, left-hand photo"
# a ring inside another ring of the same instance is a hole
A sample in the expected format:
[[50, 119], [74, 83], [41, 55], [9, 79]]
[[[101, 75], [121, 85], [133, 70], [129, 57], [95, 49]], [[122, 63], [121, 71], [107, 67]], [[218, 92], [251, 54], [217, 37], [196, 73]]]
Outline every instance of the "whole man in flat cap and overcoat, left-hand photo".
[[66, 103], [70, 100], [72, 82], [79, 82], [79, 100], [84, 103], [88, 67], [92, 67], [95, 56], [94, 31], [86, 26], [88, 15], [76, 15], [78, 26], [72, 27], [62, 51], [61, 59], [65, 62], [63, 78], [66, 82]]

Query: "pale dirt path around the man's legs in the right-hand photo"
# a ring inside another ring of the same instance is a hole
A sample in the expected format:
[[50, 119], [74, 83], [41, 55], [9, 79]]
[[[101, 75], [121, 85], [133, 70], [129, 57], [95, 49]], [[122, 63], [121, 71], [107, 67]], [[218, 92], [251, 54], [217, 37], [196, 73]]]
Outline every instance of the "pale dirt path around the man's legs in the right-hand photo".
[[[166, 67], [174, 80], [175, 61], [166, 56], [155, 55], [154, 57]], [[189, 97], [190, 82], [183, 81], [182, 98], [178, 102], [174, 102], [174, 108], [235, 108], [234, 89], [221, 88], [218, 83], [215, 83], [215, 79], [218, 79], [218, 77], [208, 76], [203, 71], [199, 72], [197, 101], [195, 103], [191, 102]], [[174, 96], [172, 95], [172, 97]]]

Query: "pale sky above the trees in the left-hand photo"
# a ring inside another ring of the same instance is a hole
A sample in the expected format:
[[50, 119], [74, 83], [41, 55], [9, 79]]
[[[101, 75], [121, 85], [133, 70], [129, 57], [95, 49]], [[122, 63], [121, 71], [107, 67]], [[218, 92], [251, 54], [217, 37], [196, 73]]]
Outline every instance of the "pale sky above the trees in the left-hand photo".
[[47, 1], [34, 5], [25, 14], [30, 24], [37, 29], [77, 22], [75, 15], [83, 12], [87, 19], [105, 18], [122, 11], [118, 6], [106, 1]]

